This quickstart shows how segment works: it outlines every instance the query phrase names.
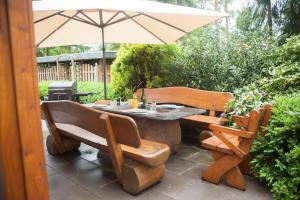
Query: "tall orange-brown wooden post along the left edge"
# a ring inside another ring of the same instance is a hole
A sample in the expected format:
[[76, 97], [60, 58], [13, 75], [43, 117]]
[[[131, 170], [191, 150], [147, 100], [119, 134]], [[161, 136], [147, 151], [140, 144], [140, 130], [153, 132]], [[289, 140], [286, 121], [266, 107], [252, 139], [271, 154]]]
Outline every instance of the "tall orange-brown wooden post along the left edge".
[[5, 200], [48, 200], [32, 0], [0, 0], [0, 163]]

